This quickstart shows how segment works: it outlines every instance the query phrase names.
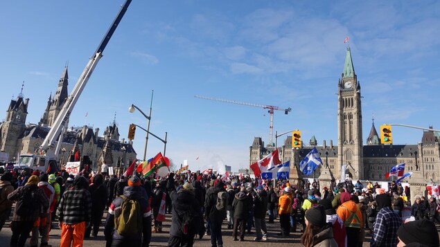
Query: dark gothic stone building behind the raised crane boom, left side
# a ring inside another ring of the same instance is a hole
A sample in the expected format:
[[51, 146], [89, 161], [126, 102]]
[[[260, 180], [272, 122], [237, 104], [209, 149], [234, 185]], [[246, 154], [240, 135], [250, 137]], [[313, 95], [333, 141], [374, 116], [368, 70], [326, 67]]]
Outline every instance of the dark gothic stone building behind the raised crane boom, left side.
[[[16, 100], [10, 101], [6, 118], [0, 122], [0, 152], [8, 154], [9, 161], [16, 161], [17, 154], [33, 154], [39, 148], [69, 96], [68, 84], [66, 66], [58, 82], [58, 89], [53, 98], [52, 95], [49, 96], [38, 124], [26, 124], [29, 99], [24, 99], [23, 89]], [[58, 161], [62, 165], [73, 161], [74, 154], [78, 152], [82, 163], [90, 165], [93, 170], [98, 170], [103, 163], [113, 167], [130, 165], [136, 158], [136, 152], [132, 143], [119, 140], [119, 137], [116, 120], [105, 128], [103, 136], [99, 136], [98, 128], [93, 129], [87, 125], [66, 127]]]

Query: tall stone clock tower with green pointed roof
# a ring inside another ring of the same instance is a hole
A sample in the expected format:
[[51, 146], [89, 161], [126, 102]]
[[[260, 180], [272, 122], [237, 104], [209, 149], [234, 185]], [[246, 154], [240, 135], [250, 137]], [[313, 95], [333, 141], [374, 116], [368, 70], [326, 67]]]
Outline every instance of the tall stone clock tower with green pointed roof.
[[346, 165], [345, 174], [353, 180], [362, 179], [362, 109], [360, 82], [353, 68], [350, 48], [347, 48], [344, 71], [339, 80], [337, 102], [338, 129], [338, 178], [342, 165]]

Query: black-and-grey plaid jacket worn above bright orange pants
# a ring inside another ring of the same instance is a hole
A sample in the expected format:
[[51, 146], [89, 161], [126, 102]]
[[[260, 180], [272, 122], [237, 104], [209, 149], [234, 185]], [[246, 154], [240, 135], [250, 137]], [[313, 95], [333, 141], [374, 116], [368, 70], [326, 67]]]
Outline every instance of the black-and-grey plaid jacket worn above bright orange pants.
[[89, 190], [71, 188], [62, 194], [58, 206], [58, 217], [62, 223], [73, 225], [80, 222], [90, 222], [91, 194]]

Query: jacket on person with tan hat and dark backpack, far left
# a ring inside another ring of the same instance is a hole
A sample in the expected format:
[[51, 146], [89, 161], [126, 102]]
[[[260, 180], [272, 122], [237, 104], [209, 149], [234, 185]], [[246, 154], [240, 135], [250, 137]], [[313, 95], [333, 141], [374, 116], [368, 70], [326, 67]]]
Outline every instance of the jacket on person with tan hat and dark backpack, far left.
[[46, 212], [49, 208], [49, 199], [47, 199], [46, 194], [44, 194], [44, 191], [39, 188], [37, 185], [24, 185], [21, 187], [18, 187], [17, 190], [14, 190], [10, 194], [8, 194], [8, 199], [10, 201], [18, 201], [21, 197], [21, 195], [24, 194], [24, 190], [28, 189], [30, 186], [33, 186], [33, 199], [35, 201], [35, 205], [37, 209], [34, 210], [33, 214], [26, 215], [26, 216], [19, 216], [17, 214], [17, 207], [15, 207], [14, 210], [14, 216], [12, 217], [12, 221], [36, 221], [39, 217], [40, 210], [39, 207], [42, 207], [44, 210], [43, 212]]

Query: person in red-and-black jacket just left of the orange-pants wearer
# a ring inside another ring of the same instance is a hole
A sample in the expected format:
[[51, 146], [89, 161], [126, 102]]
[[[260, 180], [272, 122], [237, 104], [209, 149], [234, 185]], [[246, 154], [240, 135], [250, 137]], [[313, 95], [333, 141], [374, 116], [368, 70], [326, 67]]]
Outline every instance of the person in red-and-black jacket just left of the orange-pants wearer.
[[41, 246], [48, 246], [49, 243], [49, 230], [51, 226], [51, 213], [55, 209], [55, 189], [53, 189], [52, 185], [48, 183], [49, 176], [47, 174], [42, 174], [39, 176], [38, 187], [44, 191], [47, 198], [49, 199], [49, 208], [46, 211], [41, 211], [37, 221], [35, 221], [34, 226], [32, 228], [32, 237], [30, 237], [30, 246], [38, 245], [38, 235], [41, 232], [42, 235], [42, 244]]

